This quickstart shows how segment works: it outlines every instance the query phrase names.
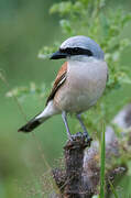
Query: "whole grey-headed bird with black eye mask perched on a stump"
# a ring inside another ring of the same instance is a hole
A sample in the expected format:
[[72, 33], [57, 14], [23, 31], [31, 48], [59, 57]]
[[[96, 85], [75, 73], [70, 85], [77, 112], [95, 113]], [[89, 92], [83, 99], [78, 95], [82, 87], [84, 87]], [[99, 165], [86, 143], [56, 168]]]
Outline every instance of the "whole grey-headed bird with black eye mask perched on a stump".
[[84, 133], [88, 131], [81, 113], [88, 111], [102, 96], [108, 79], [105, 54], [92, 38], [76, 35], [65, 40], [50, 59], [65, 59], [42, 112], [31, 119], [19, 132], [31, 132], [55, 114], [62, 114], [67, 138], [73, 140], [67, 116], [75, 114]]

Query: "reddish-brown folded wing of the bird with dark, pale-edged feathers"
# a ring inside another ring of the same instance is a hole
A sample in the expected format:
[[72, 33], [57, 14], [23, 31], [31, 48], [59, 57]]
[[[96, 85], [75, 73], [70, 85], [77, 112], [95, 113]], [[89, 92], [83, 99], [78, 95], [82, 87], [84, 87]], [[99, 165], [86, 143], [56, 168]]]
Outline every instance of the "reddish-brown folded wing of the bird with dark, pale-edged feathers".
[[52, 100], [56, 94], [56, 91], [58, 90], [58, 88], [64, 84], [64, 81], [66, 80], [66, 73], [67, 73], [67, 62], [65, 62], [61, 69], [58, 70], [58, 74], [56, 76], [56, 79], [54, 81], [52, 91], [46, 100], [46, 105], [48, 103], [50, 100]]

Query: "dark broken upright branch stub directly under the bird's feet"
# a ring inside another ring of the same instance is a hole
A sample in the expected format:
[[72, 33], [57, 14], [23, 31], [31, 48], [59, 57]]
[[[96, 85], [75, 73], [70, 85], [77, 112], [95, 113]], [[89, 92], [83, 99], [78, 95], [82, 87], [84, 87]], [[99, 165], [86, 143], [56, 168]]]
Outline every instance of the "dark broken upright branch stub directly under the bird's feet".
[[92, 193], [84, 184], [84, 151], [88, 142], [81, 133], [74, 135], [64, 147], [65, 174], [59, 169], [53, 170], [55, 182], [64, 198], [90, 198]]

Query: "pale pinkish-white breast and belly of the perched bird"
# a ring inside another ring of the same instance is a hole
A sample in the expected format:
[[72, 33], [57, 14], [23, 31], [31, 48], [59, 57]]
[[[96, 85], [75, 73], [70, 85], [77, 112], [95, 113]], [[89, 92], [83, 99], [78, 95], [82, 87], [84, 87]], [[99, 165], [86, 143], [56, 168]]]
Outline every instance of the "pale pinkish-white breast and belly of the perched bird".
[[105, 90], [107, 72], [101, 61], [68, 62], [67, 79], [55, 97], [58, 108], [76, 113], [88, 110]]

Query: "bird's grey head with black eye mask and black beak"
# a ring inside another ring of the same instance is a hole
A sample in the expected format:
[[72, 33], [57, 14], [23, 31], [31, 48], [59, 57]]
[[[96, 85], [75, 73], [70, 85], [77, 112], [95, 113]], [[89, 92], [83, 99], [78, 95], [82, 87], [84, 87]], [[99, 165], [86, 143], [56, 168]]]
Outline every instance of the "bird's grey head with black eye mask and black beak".
[[72, 57], [94, 57], [103, 59], [103, 52], [100, 46], [90, 37], [83, 35], [73, 36], [64, 41], [59, 51], [51, 56], [51, 59], [72, 58]]

